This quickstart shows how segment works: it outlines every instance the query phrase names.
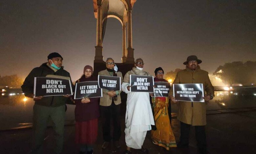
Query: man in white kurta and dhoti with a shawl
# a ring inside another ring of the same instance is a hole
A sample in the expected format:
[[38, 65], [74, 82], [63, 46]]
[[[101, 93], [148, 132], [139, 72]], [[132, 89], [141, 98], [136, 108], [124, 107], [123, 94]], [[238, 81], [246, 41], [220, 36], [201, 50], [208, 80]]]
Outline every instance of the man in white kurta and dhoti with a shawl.
[[150, 75], [148, 72], [141, 69], [143, 65], [143, 60], [137, 59], [135, 67], [125, 74], [122, 83], [122, 91], [127, 93], [124, 130], [127, 145], [126, 153], [130, 152], [130, 148], [142, 149], [147, 131], [151, 130], [151, 125], [155, 125], [149, 93], [129, 91], [129, 79], [131, 74]]

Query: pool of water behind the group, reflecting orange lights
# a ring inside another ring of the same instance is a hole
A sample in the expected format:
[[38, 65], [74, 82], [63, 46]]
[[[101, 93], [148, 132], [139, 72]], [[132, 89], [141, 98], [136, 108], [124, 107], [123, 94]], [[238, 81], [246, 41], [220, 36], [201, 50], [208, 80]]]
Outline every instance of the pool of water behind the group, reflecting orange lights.
[[[255, 94], [255, 95], [254, 95]], [[0, 130], [28, 126], [32, 123], [34, 101], [24, 95], [0, 95]], [[66, 121], [75, 119], [75, 105], [67, 105]], [[230, 91], [215, 91], [213, 100], [207, 102], [206, 110], [229, 108], [256, 107], [256, 91], [249, 95]], [[172, 105], [172, 112], [177, 112], [177, 106]]]

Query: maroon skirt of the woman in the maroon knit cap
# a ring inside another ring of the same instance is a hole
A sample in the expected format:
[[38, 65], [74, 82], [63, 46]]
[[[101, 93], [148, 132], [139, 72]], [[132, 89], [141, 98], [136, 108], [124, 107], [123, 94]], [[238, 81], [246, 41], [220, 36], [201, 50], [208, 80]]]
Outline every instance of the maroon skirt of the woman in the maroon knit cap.
[[94, 144], [98, 136], [98, 119], [75, 122], [75, 143]]

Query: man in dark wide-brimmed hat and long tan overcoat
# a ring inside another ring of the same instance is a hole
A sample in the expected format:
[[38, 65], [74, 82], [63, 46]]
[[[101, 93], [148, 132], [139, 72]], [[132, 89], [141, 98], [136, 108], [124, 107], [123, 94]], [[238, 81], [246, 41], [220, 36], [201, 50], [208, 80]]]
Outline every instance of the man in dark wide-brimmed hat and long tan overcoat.
[[[183, 63], [186, 68], [179, 71], [173, 81], [173, 84], [203, 84], [205, 95], [203, 99], [209, 101], [213, 99], [214, 87], [208, 76], [208, 72], [200, 69], [201, 60], [195, 55], [187, 57]], [[177, 101], [173, 96], [173, 87], [170, 89], [169, 98], [172, 102], [178, 104], [178, 119], [181, 122], [181, 136], [177, 144], [178, 147], [187, 147], [189, 144], [189, 129], [190, 126], [195, 126], [195, 134], [199, 153], [207, 153], [206, 150], [206, 109], [204, 102], [184, 102]]]

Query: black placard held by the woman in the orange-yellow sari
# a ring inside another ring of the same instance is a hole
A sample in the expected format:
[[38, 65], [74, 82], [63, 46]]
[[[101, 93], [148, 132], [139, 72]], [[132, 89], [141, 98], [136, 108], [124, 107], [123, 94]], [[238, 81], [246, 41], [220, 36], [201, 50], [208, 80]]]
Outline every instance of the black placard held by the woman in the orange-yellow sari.
[[169, 82], [155, 82], [154, 97], [168, 97], [170, 88]]

